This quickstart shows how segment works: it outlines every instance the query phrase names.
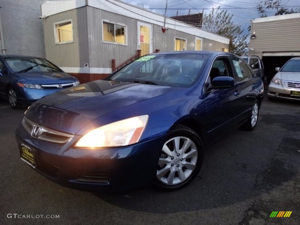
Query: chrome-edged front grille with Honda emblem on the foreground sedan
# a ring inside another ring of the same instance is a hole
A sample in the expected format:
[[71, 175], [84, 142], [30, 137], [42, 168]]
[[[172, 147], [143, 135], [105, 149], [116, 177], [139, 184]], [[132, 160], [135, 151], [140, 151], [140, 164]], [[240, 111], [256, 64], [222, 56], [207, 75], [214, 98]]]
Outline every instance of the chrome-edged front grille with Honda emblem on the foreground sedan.
[[37, 123], [27, 119], [25, 116], [23, 117], [22, 125], [33, 138], [44, 141], [62, 144], [68, 142], [72, 137], [74, 137], [71, 134], [62, 133], [38, 125]]

